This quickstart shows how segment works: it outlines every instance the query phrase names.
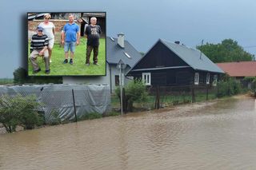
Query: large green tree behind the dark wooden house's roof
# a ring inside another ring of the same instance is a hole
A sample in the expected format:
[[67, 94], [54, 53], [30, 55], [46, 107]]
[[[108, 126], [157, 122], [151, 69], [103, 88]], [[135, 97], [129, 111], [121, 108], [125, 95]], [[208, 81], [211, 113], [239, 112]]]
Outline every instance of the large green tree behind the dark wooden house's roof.
[[246, 52], [238, 42], [225, 39], [222, 43], [197, 46], [213, 62], [252, 61], [254, 55]]

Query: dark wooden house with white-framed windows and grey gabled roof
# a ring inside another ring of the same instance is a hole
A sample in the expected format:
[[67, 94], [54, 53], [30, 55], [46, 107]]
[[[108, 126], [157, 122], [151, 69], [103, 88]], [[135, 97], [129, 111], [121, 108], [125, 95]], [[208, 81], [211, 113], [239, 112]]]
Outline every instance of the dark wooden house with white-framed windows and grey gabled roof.
[[146, 85], [216, 85], [222, 73], [198, 49], [159, 39], [127, 75]]

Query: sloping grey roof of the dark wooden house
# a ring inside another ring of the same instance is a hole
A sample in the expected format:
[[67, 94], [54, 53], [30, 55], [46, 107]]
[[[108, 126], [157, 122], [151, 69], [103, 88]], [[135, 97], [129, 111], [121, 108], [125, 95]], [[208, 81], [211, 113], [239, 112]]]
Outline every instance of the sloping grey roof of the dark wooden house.
[[178, 55], [178, 57], [185, 61], [186, 64], [190, 65], [195, 70], [198, 69], [214, 73], [224, 73], [218, 65], [215, 65], [213, 61], [210, 61], [210, 59], [198, 49], [193, 49], [186, 45], [180, 45], [174, 42], [167, 42], [162, 39], [159, 39], [159, 41], [166, 45], [170, 50]]

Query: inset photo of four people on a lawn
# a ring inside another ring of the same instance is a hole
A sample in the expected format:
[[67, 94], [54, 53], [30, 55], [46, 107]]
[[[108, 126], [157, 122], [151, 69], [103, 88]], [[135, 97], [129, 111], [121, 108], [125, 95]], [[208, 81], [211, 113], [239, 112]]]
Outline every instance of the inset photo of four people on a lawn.
[[29, 76], [106, 76], [106, 12], [27, 13]]

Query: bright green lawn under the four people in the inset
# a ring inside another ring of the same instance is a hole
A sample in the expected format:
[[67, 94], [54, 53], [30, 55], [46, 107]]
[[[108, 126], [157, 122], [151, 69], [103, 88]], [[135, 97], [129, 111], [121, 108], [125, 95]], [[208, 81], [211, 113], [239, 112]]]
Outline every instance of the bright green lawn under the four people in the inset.
[[[30, 43], [28, 45], [30, 48]], [[29, 50], [30, 51], [30, 50]], [[29, 53], [30, 54], [30, 53]], [[80, 44], [76, 46], [74, 52], [74, 64], [63, 64], [65, 59], [64, 48], [59, 44], [54, 44], [50, 63], [50, 74], [45, 73], [45, 65], [42, 57], [38, 57], [38, 65], [42, 69], [41, 72], [33, 74], [33, 67], [30, 60], [28, 75], [29, 76], [98, 76], [106, 74], [106, 41], [105, 38], [100, 38], [98, 49], [98, 64], [93, 65], [93, 52], [90, 55], [90, 66], [86, 66], [86, 39], [80, 38]]]

